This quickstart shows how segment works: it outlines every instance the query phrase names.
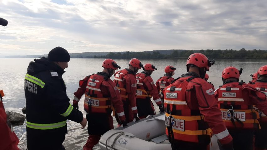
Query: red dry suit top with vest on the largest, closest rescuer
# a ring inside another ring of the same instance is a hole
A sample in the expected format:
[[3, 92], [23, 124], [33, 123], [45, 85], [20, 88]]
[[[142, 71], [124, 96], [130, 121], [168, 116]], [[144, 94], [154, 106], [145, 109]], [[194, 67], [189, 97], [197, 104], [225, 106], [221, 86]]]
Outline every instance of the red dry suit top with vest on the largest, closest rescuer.
[[[176, 145], [182, 149], [185, 143], [191, 143], [189, 145], [192, 147], [193, 145], [208, 147], [211, 134], [215, 135], [223, 145], [232, 141], [221, 119], [213, 86], [193, 72], [183, 74], [165, 88], [164, 108], [166, 135], [173, 144], [179, 143]], [[174, 121], [172, 126], [169, 126], [170, 121]]]

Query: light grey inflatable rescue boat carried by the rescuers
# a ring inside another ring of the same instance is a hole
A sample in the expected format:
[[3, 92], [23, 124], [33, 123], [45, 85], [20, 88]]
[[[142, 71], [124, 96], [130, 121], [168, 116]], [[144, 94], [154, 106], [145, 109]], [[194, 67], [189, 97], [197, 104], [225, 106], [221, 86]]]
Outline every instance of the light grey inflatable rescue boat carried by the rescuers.
[[[101, 150], [172, 150], [165, 134], [165, 113], [149, 115], [127, 127], [118, 127], [106, 132], [100, 139]], [[215, 136], [210, 150], [219, 150]]]

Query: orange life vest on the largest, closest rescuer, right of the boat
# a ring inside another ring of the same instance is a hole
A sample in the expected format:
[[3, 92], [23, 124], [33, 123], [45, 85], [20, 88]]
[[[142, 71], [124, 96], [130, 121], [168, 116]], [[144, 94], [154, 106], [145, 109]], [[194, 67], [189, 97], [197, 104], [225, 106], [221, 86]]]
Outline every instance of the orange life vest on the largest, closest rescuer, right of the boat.
[[[209, 144], [211, 129], [204, 122], [204, 116], [199, 110], [191, 110], [186, 102], [186, 88], [191, 76], [179, 78], [164, 91], [164, 108], [166, 135], [170, 126], [169, 116], [172, 116], [172, 131], [175, 140]], [[169, 136], [169, 135], [168, 135]]]

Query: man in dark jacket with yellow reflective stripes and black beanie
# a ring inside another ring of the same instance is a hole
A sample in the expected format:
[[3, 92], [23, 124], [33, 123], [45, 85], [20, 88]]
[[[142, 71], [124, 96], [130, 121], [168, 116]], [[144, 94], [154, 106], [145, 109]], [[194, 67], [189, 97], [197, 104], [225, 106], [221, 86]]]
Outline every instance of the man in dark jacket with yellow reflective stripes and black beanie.
[[69, 103], [62, 79], [69, 60], [68, 51], [56, 47], [49, 52], [48, 59], [34, 59], [28, 66], [25, 76], [28, 150], [64, 150], [67, 119], [80, 122], [82, 128], [87, 124], [82, 112]]

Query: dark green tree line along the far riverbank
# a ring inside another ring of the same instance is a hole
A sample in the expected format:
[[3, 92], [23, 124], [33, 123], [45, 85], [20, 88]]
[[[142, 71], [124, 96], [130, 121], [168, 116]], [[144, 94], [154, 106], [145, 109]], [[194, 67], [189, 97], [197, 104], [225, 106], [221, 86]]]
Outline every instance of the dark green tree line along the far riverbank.
[[111, 59], [131, 59], [131, 58], [144, 58], [144, 59], [168, 59], [168, 58], [188, 58], [190, 54], [193, 53], [202, 53], [208, 58], [217, 58], [217, 59], [267, 59], [266, 50], [213, 50], [213, 49], [201, 49], [201, 50], [174, 50], [171, 54], [163, 54], [158, 51], [144, 51], [144, 52], [129, 52], [120, 53], [120, 52], [110, 52], [102, 56], [94, 56], [94, 58], [111, 58]]

